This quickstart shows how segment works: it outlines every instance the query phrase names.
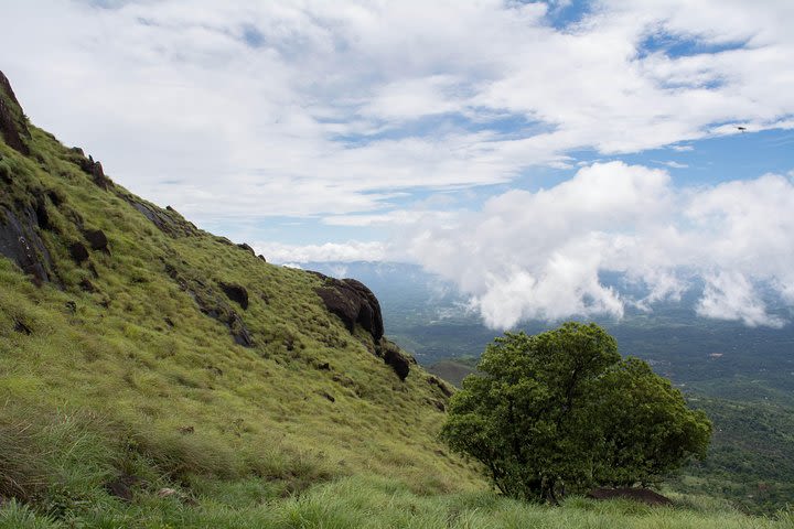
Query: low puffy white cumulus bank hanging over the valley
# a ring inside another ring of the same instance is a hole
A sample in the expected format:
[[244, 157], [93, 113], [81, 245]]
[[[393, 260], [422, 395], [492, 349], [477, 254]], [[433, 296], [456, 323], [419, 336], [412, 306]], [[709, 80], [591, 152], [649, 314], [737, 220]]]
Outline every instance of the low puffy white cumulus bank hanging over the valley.
[[[792, 208], [794, 184], [783, 175], [676, 188], [663, 170], [597, 163], [548, 190], [496, 196], [454, 226], [417, 228], [403, 244], [494, 327], [620, 317], [626, 304], [678, 299], [694, 278], [706, 282], [700, 315], [780, 326], [759, 285], [792, 301]], [[646, 293], [622, 296], [600, 280], [607, 271]]]

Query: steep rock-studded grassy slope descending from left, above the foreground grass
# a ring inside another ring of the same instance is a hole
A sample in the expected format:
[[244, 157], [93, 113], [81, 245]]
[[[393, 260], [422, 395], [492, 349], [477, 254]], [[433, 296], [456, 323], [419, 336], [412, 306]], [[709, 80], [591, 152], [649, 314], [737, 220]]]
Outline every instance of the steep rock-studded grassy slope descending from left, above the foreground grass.
[[[1, 74], [0, 136], [0, 498], [201, 476], [479, 483], [436, 440], [448, 388], [382, 337], [366, 287], [132, 195], [30, 125]], [[85, 465], [57, 455], [88, 438]]]

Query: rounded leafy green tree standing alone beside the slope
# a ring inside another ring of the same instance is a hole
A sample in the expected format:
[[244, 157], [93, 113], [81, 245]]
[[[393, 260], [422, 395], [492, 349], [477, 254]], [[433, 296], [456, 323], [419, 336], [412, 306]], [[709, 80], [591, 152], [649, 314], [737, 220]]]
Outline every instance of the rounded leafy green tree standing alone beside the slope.
[[647, 484], [705, 456], [711, 423], [596, 324], [505, 333], [450, 402], [442, 438], [494, 485], [555, 500], [596, 485]]

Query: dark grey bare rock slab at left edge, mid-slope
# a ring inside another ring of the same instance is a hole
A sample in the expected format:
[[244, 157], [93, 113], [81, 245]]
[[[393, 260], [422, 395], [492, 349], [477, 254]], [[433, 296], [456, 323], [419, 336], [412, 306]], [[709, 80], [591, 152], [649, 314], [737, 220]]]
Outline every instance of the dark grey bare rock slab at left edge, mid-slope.
[[0, 255], [14, 261], [33, 277], [36, 284], [50, 281], [52, 259], [35, 227], [35, 212], [25, 208], [22, 215], [0, 206]]

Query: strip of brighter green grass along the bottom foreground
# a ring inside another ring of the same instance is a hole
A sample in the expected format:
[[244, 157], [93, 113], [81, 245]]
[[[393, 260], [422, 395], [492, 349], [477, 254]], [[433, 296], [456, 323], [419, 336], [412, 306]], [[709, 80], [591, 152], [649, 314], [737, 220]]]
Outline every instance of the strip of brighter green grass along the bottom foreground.
[[749, 517], [725, 505], [689, 499], [675, 507], [571, 497], [560, 507], [528, 505], [490, 492], [420, 495], [378, 476], [355, 476], [318, 485], [300, 496], [278, 498], [255, 482], [198, 487], [185, 496], [140, 494], [133, 504], [105, 498], [55, 519], [18, 503], [0, 509], [0, 528], [588, 528], [588, 529], [787, 529], [792, 511]]

